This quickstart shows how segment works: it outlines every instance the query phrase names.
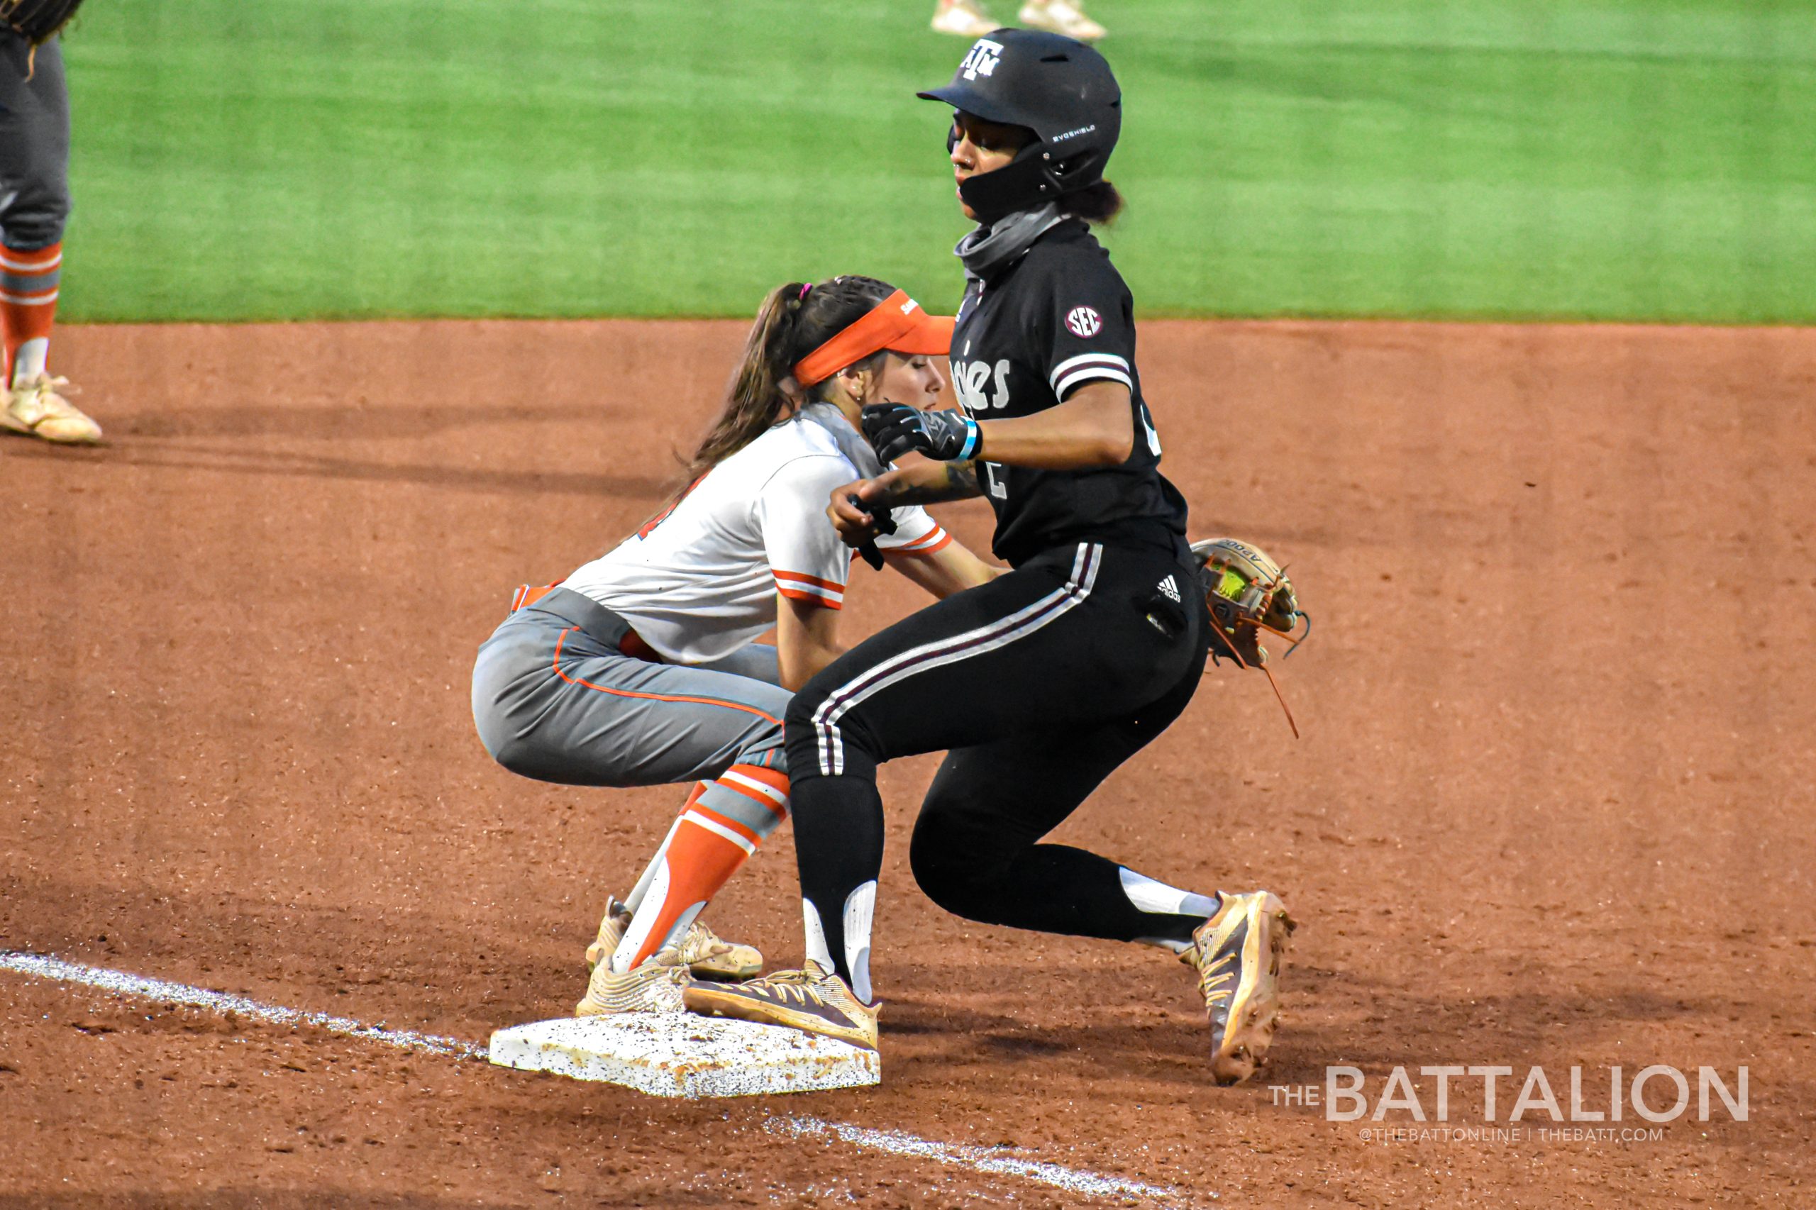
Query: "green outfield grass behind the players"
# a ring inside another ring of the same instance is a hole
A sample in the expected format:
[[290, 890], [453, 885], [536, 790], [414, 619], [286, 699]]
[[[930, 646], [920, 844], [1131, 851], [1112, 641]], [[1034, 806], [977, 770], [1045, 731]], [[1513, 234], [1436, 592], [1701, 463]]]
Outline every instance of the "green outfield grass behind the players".
[[[1091, 7], [1148, 314], [1816, 322], [1807, 4]], [[852, 271], [948, 307], [930, 9], [91, 4], [64, 316], [748, 314]]]

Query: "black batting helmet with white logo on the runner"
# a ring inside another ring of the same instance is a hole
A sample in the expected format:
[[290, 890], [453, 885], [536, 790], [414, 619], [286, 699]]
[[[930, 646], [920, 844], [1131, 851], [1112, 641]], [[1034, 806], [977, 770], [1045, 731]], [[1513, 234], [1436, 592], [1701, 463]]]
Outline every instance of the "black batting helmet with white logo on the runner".
[[952, 84], [917, 96], [1035, 133], [1015, 160], [959, 185], [986, 223], [1100, 182], [1122, 131], [1122, 89], [1104, 56], [1039, 29], [979, 38]]

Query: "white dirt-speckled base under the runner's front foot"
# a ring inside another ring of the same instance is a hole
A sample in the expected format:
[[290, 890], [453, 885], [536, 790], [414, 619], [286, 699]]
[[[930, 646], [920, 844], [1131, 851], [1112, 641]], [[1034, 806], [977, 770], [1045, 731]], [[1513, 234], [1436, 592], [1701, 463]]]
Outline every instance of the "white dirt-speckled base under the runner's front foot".
[[748, 1097], [883, 1083], [875, 1050], [690, 1012], [518, 1025], [492, 1034], [490, 1059], [519, 1072], [601, 1079], [654, 1097]]

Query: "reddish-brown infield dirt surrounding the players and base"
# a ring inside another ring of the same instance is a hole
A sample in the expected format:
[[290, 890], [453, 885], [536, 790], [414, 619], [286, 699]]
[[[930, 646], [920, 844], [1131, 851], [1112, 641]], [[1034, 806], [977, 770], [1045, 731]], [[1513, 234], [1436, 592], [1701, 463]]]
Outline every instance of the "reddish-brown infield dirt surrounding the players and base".
[[[741, 329], [62, 332], [111, 445], [0, 441], [4, 948], [474, 1041], [568, 1010], [679, 794], [494, 767], [472, 654], [654, 511]], [[1807, 1205], [1816, 332], [1146, 323], [1140, 363], [1193, 536], [1315, 618], [1304, 739], [1226, 667], [1059, 838], [1286, 898], [1264, 1079], [1211, 1086], [1170, 957], [921, 898], [923, 758], [883, 776], [879, 1090], [665, 1103], [0, 972], [0, 1206], [1079, 1205], [765, 1130], [803, 1112], [1180, 1205]], [[852, 634], [915, 605], [852, 576]], [[799, 959], [786, 828], [710, 921]], [[1749, 1121], [1380, 1143], [1269, 1092], [1654, 1063], [1745, 1065]]]

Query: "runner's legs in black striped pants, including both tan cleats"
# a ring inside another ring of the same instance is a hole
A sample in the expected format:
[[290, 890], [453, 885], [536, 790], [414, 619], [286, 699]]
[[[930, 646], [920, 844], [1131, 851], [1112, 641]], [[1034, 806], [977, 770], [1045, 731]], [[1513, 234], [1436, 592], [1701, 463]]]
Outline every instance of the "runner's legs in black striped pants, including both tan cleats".
[[1180, 890], [1039, 843], [1186, 707], [1208, 620], [1151, 594], [1179, 572], [1155, 556], [1081, 547], [1064, 587], [1046, 594], [1031, 567], [890, 627], [795, 696], [788, 756], [808, 963], [795, 976], [688, 988], [688, 1008], [873, 1046], [877, 1005], [864, 1001], [883, 867], [875, 765], [950, 747], [910, 854], [928, 896], [972, 919], [1180, 954], [1211, 1017], [1213, 1076], [1253, 1074], [1271, 1041], [1291, 927], [1280, 901]]

